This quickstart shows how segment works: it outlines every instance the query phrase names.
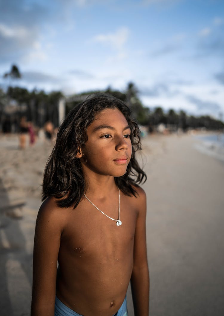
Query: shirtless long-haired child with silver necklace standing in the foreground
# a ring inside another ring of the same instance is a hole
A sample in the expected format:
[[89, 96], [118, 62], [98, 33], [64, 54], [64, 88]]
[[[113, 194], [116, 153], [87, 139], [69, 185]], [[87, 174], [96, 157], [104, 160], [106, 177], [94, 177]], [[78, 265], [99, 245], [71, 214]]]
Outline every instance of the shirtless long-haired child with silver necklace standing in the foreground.
[[[148, 316], [146, 180], [126, 103], [95, 94], [70, 111], [44, 172], [31, 316]], [[58, 268], [57, 268], [58, 262]]]

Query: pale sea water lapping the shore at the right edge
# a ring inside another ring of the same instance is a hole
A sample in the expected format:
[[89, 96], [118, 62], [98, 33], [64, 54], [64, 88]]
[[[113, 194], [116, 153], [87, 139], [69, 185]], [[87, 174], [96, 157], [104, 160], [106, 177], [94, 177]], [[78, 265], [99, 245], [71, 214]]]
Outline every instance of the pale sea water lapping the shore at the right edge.
[[203, 154], [224, 162], [224, 133], [194, 136], [199, 142], [194, 147]]

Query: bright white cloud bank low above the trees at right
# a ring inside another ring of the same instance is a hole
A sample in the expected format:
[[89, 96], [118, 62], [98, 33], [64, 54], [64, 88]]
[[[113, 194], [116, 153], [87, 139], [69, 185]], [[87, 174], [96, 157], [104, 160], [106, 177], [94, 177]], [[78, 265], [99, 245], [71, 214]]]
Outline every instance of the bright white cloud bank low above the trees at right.
[[[215, 90], [215, 94], [211, 93]], [[175, 84], [165, 83], [155, 85], [151, 89], [140, 89], [140, 99], [150, 108], [161, 106], [165, 111], [173, 108], [176, 111], [183, 109], [193, 115], [215, 115], [224, 112], [224, 91], [217, 88], [214, 82], [204, 84]]]

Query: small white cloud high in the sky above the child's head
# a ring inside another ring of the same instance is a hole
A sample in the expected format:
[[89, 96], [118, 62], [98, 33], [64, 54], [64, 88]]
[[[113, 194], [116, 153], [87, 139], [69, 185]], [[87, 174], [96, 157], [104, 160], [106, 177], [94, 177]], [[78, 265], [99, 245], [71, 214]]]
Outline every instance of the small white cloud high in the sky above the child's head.
[[93, 37], [92, 41], [103, 43], [115, 49], [121, 50], [128, 40], [129, 29], [127, 27], [119, 28], [115, 33], [98, 34]]

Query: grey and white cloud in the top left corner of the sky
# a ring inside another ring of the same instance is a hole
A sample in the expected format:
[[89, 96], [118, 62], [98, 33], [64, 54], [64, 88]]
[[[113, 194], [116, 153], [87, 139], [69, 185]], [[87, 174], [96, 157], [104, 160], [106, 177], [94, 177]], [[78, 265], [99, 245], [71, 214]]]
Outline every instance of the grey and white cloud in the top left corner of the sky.
[[[38, 1], [0, 1], [0, 64], [26, 62], [27, 56], [34, 61], [45, 59], [39, 40], [47, 17], [47, 6]], [[31, 50], [38, 58], [30, 56]]]

